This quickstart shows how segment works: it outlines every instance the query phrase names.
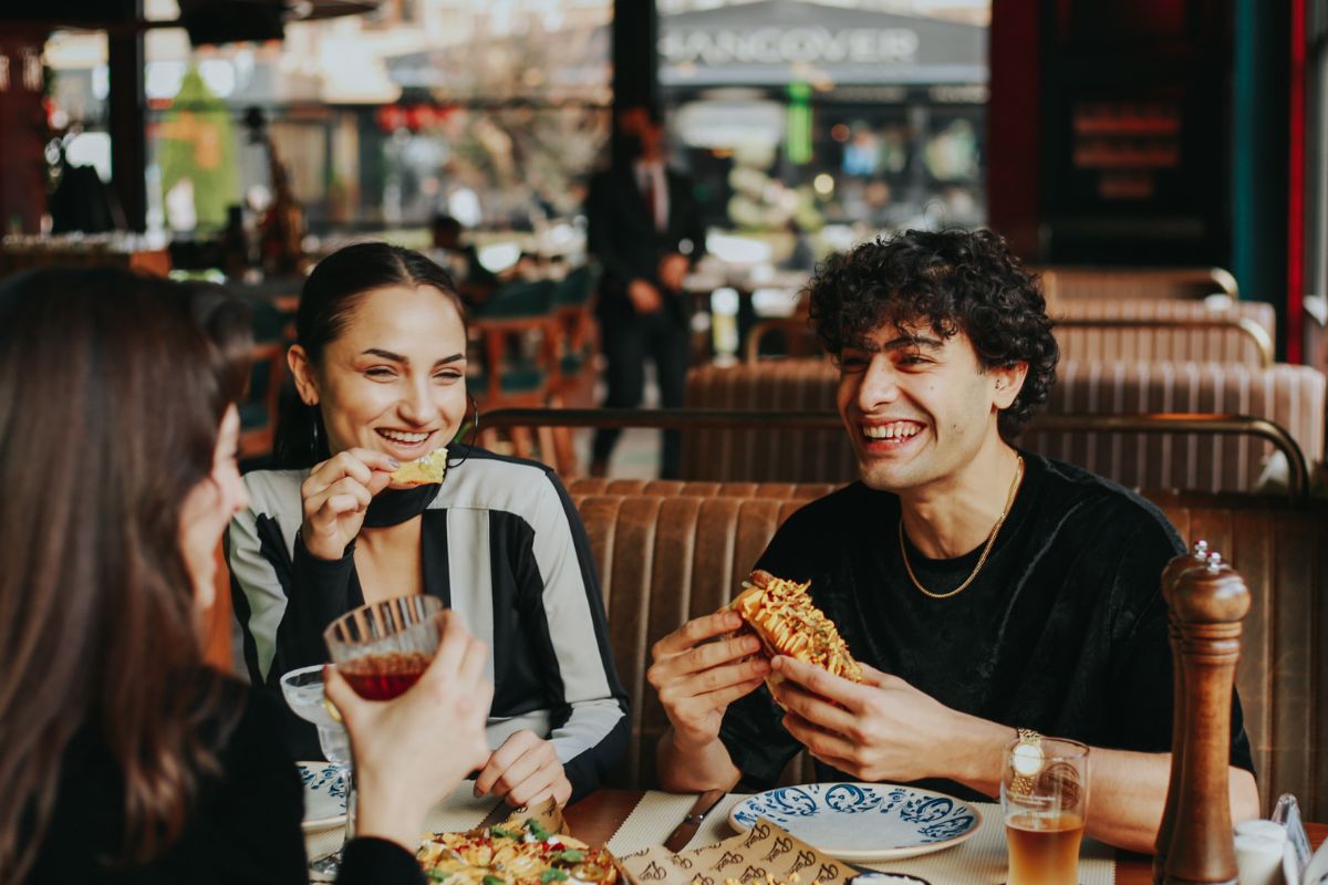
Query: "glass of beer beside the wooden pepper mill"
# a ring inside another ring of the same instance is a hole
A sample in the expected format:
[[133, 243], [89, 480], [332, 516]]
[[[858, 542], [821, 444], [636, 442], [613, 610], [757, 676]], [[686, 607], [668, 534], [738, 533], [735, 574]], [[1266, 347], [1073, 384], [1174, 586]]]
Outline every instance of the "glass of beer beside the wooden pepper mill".
[[1078, 885], [1088, 820], [1088, 747], [1042, 738], [1005, 746], [1000, 805], [1009, 841], [1007, 885]]

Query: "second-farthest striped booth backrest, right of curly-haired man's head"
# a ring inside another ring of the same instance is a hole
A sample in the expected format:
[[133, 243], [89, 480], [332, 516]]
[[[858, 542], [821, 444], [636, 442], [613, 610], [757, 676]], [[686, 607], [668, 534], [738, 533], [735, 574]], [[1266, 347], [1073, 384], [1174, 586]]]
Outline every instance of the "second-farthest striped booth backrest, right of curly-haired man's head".
[[1074, 299], [1052, 305], [1050, 313], [1062, 360], [1272, 362], [1276, 314], [1264, 301], [1215, 309], [1175, 299]]

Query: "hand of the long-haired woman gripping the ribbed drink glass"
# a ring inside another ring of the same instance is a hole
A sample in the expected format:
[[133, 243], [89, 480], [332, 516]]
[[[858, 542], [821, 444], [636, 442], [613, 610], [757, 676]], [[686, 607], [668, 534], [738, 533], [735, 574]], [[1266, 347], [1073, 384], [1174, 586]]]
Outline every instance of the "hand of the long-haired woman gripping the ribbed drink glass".
[[413, 852], [429, 809], [485, 764], [493, 698], [483, 675], [487, 659], [487, 646], [444, 613], [433, 662], [393, 701], [365, 701], [336, 667], [327, 667], [327, 697], [355, 752], [361, 836], [389, 839]]

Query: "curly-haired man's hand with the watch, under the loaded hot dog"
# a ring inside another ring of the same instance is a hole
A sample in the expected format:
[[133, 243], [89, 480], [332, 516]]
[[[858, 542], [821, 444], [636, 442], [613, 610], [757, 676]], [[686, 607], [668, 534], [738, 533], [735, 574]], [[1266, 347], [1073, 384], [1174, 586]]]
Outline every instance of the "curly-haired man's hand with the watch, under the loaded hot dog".
[[1009, 728], [951, 710], [867, 665], [861, 683], [785, 655], [773, 666], [785, 677], [774, 697], [786, 710], [789, 734], [821, 762], [859, 780], [973, 783], [968, 768], [985, 758], [981, 750], [995, 747], [999, 754], [1009, 736]]

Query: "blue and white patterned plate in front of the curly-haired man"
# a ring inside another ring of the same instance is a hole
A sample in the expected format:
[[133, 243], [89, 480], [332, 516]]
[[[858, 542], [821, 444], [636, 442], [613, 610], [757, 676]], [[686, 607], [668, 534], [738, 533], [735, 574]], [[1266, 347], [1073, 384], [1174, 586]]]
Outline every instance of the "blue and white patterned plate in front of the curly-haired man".
[[750, 796], [729, 812], [738, 831], [758, 817], [845, 861], [912, 857], [977, 832], [981, 813], [954, 796], [894, 784], [803, 784]]

